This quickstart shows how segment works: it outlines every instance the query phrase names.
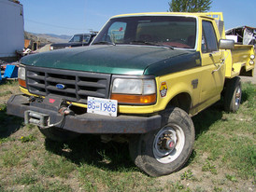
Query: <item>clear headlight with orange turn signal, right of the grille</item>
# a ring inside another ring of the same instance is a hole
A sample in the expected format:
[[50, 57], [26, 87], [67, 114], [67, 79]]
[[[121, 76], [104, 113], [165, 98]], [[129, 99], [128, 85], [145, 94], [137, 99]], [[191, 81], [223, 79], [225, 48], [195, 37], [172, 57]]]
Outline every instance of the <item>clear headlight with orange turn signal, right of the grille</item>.
[[156, 102], [154, 79], [115, 78], [111, 99], [119, 103], [152, 104]]

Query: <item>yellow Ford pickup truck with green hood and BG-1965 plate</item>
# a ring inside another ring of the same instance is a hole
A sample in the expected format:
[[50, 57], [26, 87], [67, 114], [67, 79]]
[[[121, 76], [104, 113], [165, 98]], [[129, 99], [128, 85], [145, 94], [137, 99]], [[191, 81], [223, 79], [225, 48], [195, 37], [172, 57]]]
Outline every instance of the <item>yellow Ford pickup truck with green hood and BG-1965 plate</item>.
[[252, 46], [225, 39], [222, 13], [139, 13], [110, 18], [91, 46], [21, 59], [23, 94], [7, 114], [50, 140], [79, 134], [129, 143], [151, 176], [178, 171], [192, 153], [192, 116], [224, 97], [238, 110], [238, 75], [253, 75]]

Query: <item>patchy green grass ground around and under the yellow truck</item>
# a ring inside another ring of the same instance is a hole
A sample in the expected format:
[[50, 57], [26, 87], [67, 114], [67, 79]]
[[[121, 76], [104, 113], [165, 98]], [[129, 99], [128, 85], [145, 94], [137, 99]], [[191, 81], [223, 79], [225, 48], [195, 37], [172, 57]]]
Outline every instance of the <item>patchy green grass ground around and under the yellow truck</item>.
[[249, 191], [255, 185], [256, 86], [243, 83], [237, 113], [216, 103], [192, 117], [196, 139], [185, 167], [153, 178], [139, 171], [128, 144], [82, 135], [46, 140], [35, 126], [7, 116], [17, 82], [0, 86], [0, 191]]

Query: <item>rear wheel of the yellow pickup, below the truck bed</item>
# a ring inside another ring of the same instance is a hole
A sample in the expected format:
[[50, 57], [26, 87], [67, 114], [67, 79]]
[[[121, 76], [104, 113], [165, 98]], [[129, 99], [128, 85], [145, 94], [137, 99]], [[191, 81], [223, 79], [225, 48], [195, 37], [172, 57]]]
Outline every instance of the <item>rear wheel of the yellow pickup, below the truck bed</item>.
[[224, 109], [226, 112], [236, 112], [239, 109], [242, 98], [241, 79], [235, 76], [227, 79], [224, 91]]

